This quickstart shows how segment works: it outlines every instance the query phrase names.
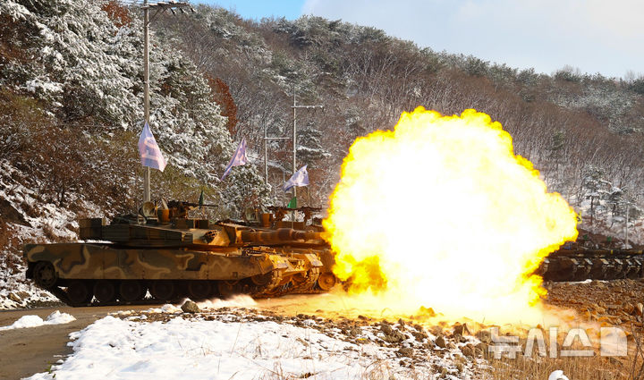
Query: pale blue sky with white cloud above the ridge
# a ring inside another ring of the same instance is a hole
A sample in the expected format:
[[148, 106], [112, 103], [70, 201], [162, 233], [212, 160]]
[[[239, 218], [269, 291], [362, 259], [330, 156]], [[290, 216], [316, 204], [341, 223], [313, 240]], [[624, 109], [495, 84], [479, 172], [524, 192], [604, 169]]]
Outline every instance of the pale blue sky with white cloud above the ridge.
[[642, 0], [199, 0], [244, 18], [303, 14], [385, 30], [435, 51], [551, 74], [644, 74]]

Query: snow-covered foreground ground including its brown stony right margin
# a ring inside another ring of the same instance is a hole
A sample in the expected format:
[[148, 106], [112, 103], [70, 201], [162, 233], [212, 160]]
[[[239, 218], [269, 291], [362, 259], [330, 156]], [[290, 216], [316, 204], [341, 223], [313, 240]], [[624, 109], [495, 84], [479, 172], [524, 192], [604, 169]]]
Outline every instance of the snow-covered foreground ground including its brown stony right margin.
[[473, 337], [440, 348], [435, 335], [402, 321], [383, 326], [209, 305], [197, 314], [165, 305], [99, 319], [70, 334], [70, 357], [30, 380], [468, 379], [481, 360], [462, 354]]

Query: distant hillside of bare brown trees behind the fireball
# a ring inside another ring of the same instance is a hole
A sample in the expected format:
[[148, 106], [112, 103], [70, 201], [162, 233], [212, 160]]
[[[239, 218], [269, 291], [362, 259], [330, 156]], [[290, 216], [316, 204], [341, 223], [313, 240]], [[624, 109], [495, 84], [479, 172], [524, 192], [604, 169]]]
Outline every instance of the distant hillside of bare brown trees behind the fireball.
[[[228, 84], [239, 121], [233, 135], [251, 141], [258, 156], [265, 128], [269, 136], [291, 133], [293, 89], [299, 102], [326, 107], [298, 114], [298, 151], [315, 177], [309, 190], [318, 205], [335, 188], [355, 138], [392, 128], [419, 105], [443, 114], [475, 108], [510, 131], [516, 153], [535, 164], [589, 229], [621, 233], [626, 205], [631, 224], [640, 225], [642, 78], [571, 67], [553, 75], [520, 71], [311, 16], [253, 22], [201, 6], [191, 18], [164, 19], [163, 28], [200, 70]], [[291, 169], [290, 148], [270, 145], [274, 186]]]

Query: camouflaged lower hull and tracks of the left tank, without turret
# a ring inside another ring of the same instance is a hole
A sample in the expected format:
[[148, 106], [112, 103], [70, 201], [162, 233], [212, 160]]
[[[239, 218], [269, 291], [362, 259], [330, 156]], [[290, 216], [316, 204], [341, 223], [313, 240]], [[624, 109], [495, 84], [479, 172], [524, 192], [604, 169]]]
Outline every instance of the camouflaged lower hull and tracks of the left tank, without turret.
[[[72, 306], [198, 300], [233, 293], [267, 297], [292, 277], [322, 266], [315, 255], [304, 260], [266, 247], [217, 252], [30, 244], [24, 257], [27, 277]], [[151, 298], [146, 298], [147, 291]]]

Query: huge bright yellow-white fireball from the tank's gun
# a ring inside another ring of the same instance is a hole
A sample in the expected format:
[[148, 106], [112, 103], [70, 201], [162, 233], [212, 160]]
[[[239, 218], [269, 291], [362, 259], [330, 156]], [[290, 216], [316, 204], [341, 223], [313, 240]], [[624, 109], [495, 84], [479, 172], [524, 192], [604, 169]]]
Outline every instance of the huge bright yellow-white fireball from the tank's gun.
[[575, 216], [499, 122], [418, 107], [356, 139], [324, 225], [335, 274], [371, 306], [539, 323], [532, 272], [577, 237]]

